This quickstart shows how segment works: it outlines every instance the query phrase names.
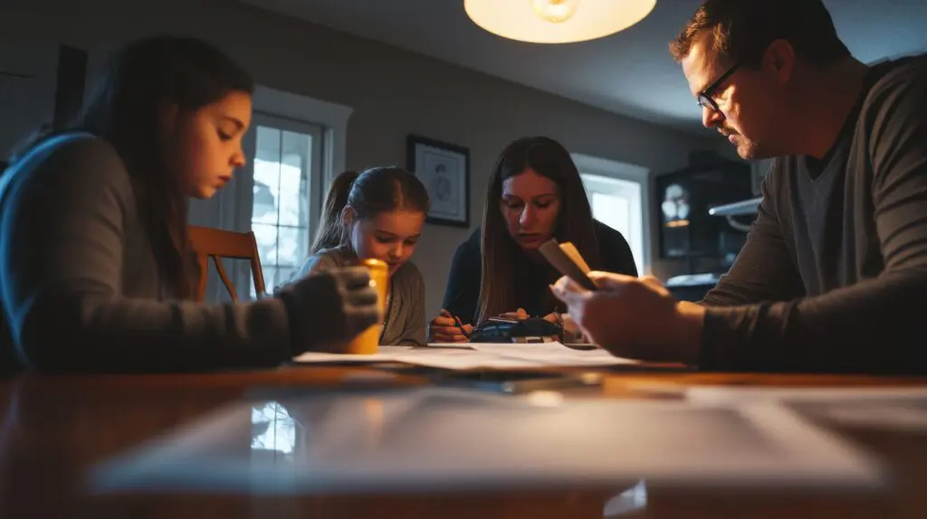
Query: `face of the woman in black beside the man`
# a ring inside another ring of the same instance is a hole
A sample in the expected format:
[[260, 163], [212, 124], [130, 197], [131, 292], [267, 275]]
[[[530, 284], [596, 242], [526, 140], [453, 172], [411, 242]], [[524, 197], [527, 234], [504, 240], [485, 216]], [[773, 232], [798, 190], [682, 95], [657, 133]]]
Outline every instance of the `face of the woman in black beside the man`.
[[560, 215], [560, 192], [552, 179], [528, 167], [502, 182], [502, 219], [514, 241], [526, 251], [553, 237]]

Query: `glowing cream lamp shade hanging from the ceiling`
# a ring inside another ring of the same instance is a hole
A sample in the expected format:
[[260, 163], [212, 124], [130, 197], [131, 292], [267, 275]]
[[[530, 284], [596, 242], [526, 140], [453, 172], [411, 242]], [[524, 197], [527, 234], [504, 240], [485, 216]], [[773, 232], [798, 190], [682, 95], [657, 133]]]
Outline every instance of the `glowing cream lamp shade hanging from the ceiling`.
[[529, 43], [572, 43], [623, 31], [656, 0], [464, 0], [464, 11], [493, 34]]

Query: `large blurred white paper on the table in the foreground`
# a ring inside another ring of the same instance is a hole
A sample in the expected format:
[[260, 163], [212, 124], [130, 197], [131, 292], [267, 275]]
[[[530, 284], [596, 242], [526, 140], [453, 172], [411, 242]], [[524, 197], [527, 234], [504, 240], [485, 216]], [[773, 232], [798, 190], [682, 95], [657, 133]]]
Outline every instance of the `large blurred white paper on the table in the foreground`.
[[551, 406], [421, 388], [331, 391], [275, 404], [312, 433], [292, 436], [290, 455], [267, 456], [267, 447], [248, 450], [234, 440], [268, 426], [255, 423], [253, 402], [239, 402], [98, 467], [95, 488], [422, 493], [645, 478], [806, 491], [883, 483], [865, 453], [768, 403], [566, 399]]

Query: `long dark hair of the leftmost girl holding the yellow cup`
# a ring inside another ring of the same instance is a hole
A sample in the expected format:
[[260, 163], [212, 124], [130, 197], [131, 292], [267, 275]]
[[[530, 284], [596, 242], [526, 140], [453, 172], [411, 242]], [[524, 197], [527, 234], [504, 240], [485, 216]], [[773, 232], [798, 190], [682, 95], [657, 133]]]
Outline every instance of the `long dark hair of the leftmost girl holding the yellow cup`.
[[82, 131], [107, 140], [133, 182], [142, 221], [165, 288], [190, 299], [199, 276], [186, 229], [181, 179], [168, 166], [159, 116], [165, 105], [195, 112], [233, 92], [252, 93], [254, 82], [221, 50], [189, 37], [153, 36], [112, 56], [88, 103], [66, 128], [44, 128], [16, 155], [55, 134]]

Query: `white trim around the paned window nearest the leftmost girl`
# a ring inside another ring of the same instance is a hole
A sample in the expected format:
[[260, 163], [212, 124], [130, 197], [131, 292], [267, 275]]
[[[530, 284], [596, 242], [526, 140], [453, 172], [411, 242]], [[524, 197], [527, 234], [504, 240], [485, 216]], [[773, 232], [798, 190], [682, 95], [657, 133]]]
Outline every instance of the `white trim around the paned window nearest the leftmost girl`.
[[348, 120], [354, 108], [258, 85], [251, 97], [255, 112], [287, 117], [324, 128], [322, 150], [323, 190], [345, 170]]

